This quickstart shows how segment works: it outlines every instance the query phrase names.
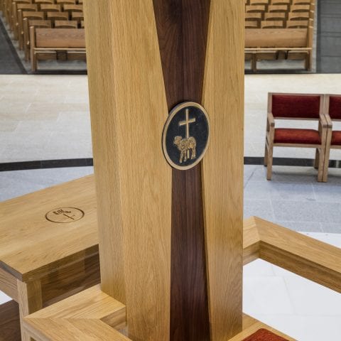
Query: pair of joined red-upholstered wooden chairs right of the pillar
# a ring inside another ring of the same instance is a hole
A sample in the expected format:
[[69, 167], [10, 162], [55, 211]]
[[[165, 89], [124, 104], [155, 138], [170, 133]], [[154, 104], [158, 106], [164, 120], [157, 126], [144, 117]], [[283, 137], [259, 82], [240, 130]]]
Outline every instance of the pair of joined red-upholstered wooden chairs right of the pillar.
[[[318, 129], [276, 128], [278, 119], [318, 121]], [[332, 121], [341, 121], [341, 94], [269, 93], [264, 166], [271, 180], [274, 147], [315, 148], [318, 181], [328, 181], [330, 149], [341, 149], [341, 131]]]

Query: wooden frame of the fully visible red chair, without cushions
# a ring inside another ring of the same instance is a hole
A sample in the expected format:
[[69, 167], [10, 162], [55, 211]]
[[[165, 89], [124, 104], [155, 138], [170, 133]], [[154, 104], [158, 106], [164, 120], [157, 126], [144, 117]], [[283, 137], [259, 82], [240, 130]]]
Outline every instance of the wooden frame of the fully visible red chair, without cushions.
[[[319, 119], [306, 119], [299, 117], [274, 117], [272, 114], [272, 97], [273, 95], [290, 95], [290, 96], [320, 96], [320, 117]], [[268, 94], [268, 113], [266, 118], [266, 139], [264, 166], [267, 167], [266, 179], [271, 180], [272, 166], [274, 157], [274, 147], [299, 147], [299, 148], [316, 148], [314, 168], [318, 169], [318, 182], [323, 182], [323, 168], [325, 159], [325, 143], [328, 134], [328, 122], [325, 119], [324, 112], [324, 95], [323, 94], [291, 94], [291, 93], [275, 93]], [[275, 119], [286, 119], [291, 121], [318, 121], [318, 131], [320, 133], [321, 144], [283, 144], [274, 143], [275, 139]]]

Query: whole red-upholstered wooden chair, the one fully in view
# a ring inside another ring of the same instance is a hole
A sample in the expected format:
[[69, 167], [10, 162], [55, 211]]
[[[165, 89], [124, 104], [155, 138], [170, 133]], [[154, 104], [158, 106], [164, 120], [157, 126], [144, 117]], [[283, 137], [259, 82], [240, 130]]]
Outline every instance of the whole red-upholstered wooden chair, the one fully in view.
[[[266, 178], [271, 180], [274, 147], [316, 148], [315, 168], [318, 168], [318, 181], [323, 181], [323, 161], [328, 123], [323, 114], [323, 94], [274, 94], [269, 93], [268, 117], [266, 123], [266, 143], [264, 166]], [[318, 130], [275, 128], [275, 120], [315, 120]]]

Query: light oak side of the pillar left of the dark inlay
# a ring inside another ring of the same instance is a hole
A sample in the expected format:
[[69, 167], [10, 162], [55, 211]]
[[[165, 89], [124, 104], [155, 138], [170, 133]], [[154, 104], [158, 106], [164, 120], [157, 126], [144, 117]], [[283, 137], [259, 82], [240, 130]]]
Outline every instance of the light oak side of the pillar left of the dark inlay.
[[[168, 340], [171, 169], [153, 2], [84, 2], [102, 289], [134, 340]], [[99, 63], [100, 60], [100, 63]]]

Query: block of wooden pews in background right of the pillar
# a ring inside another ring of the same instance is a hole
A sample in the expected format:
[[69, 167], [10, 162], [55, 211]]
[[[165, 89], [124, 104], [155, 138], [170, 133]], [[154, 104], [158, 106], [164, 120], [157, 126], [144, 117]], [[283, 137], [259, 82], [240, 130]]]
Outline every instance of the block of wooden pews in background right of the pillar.
[[245, 0], [245, 60], [304, 60], [311, 70], [315, 0]]

